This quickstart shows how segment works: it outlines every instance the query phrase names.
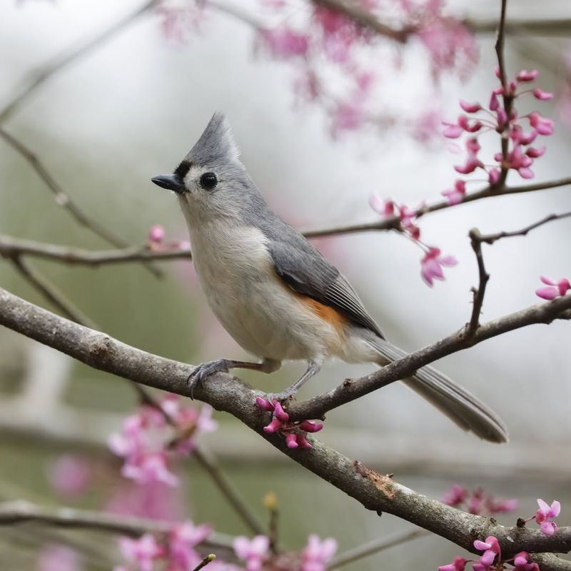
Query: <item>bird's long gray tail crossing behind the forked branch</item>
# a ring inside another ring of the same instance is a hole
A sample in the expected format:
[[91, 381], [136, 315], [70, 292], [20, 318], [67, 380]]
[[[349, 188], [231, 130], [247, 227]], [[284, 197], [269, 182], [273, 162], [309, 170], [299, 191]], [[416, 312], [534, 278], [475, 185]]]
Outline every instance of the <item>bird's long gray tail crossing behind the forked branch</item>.
[[[368, 340], [379, 354], [379, 365], [405, 357], [407, 353], [380, 338]], [[502, 419], [465, 388], [435, 368], [427, 365], [403, 383], [444, 413], [463, 430], [471, 430], [490, 442], [507, 442], [507, 428]]]

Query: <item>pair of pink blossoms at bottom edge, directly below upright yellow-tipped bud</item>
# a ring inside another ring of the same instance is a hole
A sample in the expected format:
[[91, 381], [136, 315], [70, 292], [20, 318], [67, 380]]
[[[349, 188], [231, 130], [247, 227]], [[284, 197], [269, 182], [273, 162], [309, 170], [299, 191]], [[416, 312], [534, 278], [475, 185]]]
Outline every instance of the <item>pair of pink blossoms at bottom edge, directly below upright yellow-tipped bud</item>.
[[246, 562], [246, 571], [261, 571], [264, 564], [272, 562], [276, 569], [295, 571], [326, 571], [327, 564], [337, 551], [337, 542], [328, 537], [320, 540], [317, 535], [308, 537], [301, 553], [273, 556], [270, 552], [270, 540], [265, 535], [256, 535], [253, 539], [236, 537], [234, 552], [239, 559]]

